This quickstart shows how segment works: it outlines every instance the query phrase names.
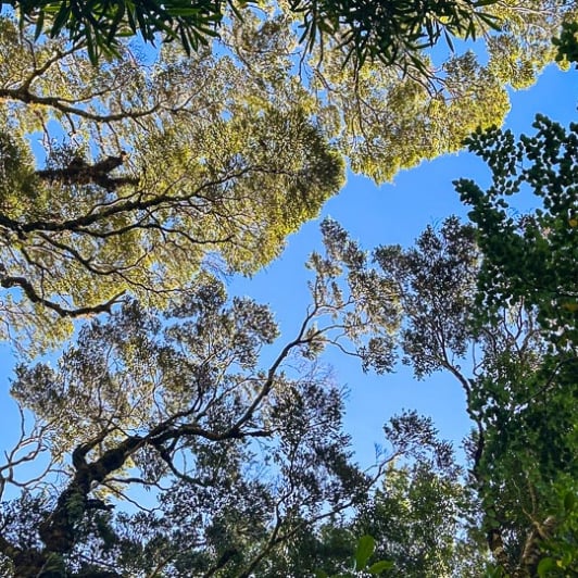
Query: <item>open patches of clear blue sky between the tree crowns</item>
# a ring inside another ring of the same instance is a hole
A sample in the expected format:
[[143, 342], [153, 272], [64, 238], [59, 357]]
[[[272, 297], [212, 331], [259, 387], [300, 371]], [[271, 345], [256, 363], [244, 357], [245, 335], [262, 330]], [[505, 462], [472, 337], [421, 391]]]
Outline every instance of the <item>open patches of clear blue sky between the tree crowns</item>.
[[[577, 100], [578, 74], [564, 74], [550, 66], [535, 87], [512, 96], [507, 126], [517, 134], [531, 133], [538, 112], [563, 124], [576, 122]], [[366, 249], [411, 244], [428, 224], [438, 224], [450, 214], [465, 215], [452, 187], [452, 180], [458, 177], [488, 180], [483, 163], [465, 152], [423, 163], [398, 175], [393, 185], [380, 188], [350, 175], [348, 185], [327, 203], [322, 217], [336, 218]], [[284, 254], [252, 279], [234, 278], [228, 284], [231, 294], [248, 294], [268, 303], [287, 340], [294, 336], [309, 303], [304, 263], [312, 250], [321, 249], [318, 224], [309, 223], [291, 236]], [[430, 415], [442, 436], [454, 440], [456, 447], [468, 432], [463, 393], [449, 376], [416, 382], [403, 367], [393, 375], [376, 377], [364, 375], [359, 363], [350, 359], [334, 355], [331, 361], [336, 380], [350, 390], [345, 427], [363, 465], [373, 462], [374, 443], [384, 441], [382, 424], [402, 409]], [[17, 435], [18, 416], [8, 397], [13, 363], [8, 348], [0, 347], [0, 450]]]

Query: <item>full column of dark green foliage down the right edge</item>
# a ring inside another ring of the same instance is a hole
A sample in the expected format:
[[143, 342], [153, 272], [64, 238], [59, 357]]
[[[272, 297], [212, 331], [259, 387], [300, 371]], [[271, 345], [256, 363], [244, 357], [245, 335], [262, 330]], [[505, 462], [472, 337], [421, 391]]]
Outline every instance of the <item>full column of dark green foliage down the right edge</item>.
[[[492, 185], [482, 191], [470, 180], [456, 183], [482, 253], [474, 327], [483, 336], [504, 312], [514, 322], [514, 352], [500, 348], [470, 407], [488, 423], [476, 477], [500, 568], [567, 576], [576, 571], [576, 488], [568, 480], [578, 475], [578, 125], [566, 130], [538, 115], [535, 127], [536, 136], [517, 142], [510, 131], [477, 131], [468, 146], [488, 163]], [[540, 205], [516, 214], [516, 194], [528, 192]], [[520, 543], [508, 554], [504, 536], [513, 531]]]

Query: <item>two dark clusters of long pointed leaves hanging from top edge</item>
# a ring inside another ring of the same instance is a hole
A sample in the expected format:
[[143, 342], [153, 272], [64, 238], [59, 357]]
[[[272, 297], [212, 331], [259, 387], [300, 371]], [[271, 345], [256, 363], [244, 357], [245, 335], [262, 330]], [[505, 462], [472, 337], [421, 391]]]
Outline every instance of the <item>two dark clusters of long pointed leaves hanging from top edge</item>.
[[[498, 18], [483, 12], [493, 1], [426, 1], [416, 7], [398, 0], [382, 7], [360, 0], [291, 0], [287, 7], [302, 18], [301, 40], [309, 49], [318, 42], [323, 46], [329, 37], [347, 48], [348, 59], [353, 55], [360, 65], [365, 60], [393, 64], [409, 59], [423, 66], [415, 54], [442, 36], [452, 46], [451, 36], [475, 38], [479, 29], [498, 28]], [[118, 54], [121, 38], [136, 34], [153, 46], [162, 35], [165, 42], [176, 40], [190, 54], [217, 36], [227, 7], [242, 18], [251, 2], [15, 0], [10, 4], [18, 12], [21, 25], [35, 25], [36, 38], [45, 30], [51, 37], [66, 30], [71, 41], [86, 42], [90, 60], [97, 64], [103, 54]]]

